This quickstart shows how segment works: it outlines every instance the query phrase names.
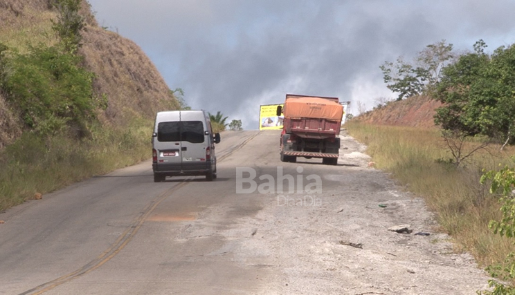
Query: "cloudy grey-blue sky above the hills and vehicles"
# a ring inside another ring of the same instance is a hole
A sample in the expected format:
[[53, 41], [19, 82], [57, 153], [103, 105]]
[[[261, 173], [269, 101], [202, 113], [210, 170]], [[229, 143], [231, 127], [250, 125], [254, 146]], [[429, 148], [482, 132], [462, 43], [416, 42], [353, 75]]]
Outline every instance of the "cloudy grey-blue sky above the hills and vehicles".
[[515, 43], [513, 0], [89, 0], [193, 109], [258, 129], [287, 93], [339, 97], [358, 115], [395, 99], [379, 66], [445, 40]]

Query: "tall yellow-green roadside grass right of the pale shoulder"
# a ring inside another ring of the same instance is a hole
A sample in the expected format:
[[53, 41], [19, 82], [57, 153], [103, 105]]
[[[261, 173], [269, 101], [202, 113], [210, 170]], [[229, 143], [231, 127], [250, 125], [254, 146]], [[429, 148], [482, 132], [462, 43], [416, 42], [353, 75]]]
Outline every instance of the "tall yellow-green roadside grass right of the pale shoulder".
[[488, 228], [490, 220], [500, 219], [500, 204], [489, 187], [479, 183], [482, 169], [512, 165], [509, 155], [514, 148], [501, 152], [500, 146], [491, 146], [489, 152], [478, 151], [457, 167], [437, 129], [352, 121], [345, 128], [368, 146], [367, 153], [379, 169], [392, 173], [399, 184], [426, 200], [442, 229], [455, 240], [456, 251], [469, 251], [480, 265], [487, 266], [503, 263], [514, 250], [512, 242]]

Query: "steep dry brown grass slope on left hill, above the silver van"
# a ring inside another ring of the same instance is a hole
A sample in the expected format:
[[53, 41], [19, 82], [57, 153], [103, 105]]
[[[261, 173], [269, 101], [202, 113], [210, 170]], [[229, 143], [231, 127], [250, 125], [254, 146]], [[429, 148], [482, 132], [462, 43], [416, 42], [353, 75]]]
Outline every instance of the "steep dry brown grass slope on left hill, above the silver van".
[[109, 101], [101, 120], [124, 125], [135, 114], [152, 119], [158, 111], [179, 109], [161, 74], [134, 42], [93, 26], [83, 37], [80, 53], [85, 67], [97, 75], [94, 90]]

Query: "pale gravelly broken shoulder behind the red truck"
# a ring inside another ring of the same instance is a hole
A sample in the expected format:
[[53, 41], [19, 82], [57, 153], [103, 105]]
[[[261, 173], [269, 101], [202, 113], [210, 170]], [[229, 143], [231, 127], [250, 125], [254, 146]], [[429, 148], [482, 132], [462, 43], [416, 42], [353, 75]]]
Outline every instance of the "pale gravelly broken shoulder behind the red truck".
[[[285, 205], [271, 196], [255, 218], [240, 220], [254, 230], [235, 259], [278, 274], [263, 294], [476, 294], [487, 288], [487, 274], [471, 255], [453, 252], [422, 198], [368, 166], [365, 146], [352, 137], [341, 136], [341, 146], [339, 166], [321, 170], [319, 203]], [[395, 225], [413, 232], [388, 230]]]

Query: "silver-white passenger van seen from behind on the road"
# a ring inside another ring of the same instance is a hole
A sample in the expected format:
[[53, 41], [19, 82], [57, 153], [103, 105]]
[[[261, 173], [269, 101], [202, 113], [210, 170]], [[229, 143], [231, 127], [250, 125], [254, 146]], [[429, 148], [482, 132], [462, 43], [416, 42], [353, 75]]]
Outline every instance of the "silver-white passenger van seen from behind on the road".
[[152, 133], [152, 170], [154, 182], [166, 176], [206, 175], [217, 178], [215, 143], [220, 134], [213, 134], [205, 111], [165, 111], [156, 115]]

